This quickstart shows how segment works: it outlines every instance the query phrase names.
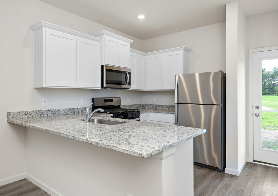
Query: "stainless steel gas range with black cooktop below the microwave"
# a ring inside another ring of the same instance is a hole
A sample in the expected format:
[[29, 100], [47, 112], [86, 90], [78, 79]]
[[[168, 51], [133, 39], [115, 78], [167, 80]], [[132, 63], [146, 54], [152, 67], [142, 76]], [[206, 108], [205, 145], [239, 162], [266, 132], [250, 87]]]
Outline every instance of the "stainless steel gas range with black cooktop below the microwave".
[[96, 97], [92, 98], [92, 111], [97, 108], [104, 109], [100, 113], [113, 114], [113, 118], [140, 121], [139, 109], [121, 108], [121, 97]]

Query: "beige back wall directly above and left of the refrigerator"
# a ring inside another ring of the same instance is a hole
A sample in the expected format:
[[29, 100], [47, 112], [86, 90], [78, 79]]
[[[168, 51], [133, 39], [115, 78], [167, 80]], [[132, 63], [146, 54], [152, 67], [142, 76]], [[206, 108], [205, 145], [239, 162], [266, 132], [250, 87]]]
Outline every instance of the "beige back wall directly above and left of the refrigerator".
[[[226, 23], [199, 27], [143, 41], [143, 52], [186, 46], [190, 52], [190, 73], [226, 72]], [[155, 98], [155, 103], [152, 103]], [[174, 91], [145, 91], [145, 104], [175, 104]]]

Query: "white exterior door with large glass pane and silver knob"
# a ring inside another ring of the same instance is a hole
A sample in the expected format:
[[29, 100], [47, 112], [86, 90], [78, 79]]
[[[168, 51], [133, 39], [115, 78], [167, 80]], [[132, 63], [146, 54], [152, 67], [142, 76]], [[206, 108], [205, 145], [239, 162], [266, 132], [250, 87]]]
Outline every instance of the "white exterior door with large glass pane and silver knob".
[[278, 50], [253, 53], [254, 161], [278, 165]]

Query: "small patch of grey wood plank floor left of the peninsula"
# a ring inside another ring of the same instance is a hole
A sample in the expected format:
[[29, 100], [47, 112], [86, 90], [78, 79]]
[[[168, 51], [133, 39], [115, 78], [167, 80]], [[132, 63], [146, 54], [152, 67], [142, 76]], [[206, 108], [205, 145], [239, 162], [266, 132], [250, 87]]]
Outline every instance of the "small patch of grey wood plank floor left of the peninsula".
[[0, 196], [50, 196], [27, 179], [0, 186]]

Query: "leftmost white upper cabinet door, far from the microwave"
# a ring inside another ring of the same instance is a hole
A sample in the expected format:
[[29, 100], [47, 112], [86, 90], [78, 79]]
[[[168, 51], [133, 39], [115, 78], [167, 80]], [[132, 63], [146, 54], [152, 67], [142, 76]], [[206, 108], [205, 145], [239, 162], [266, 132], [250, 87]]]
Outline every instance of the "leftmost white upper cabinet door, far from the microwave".
[[45, 30], [46, 86], [76, 87], [76, 36]]

